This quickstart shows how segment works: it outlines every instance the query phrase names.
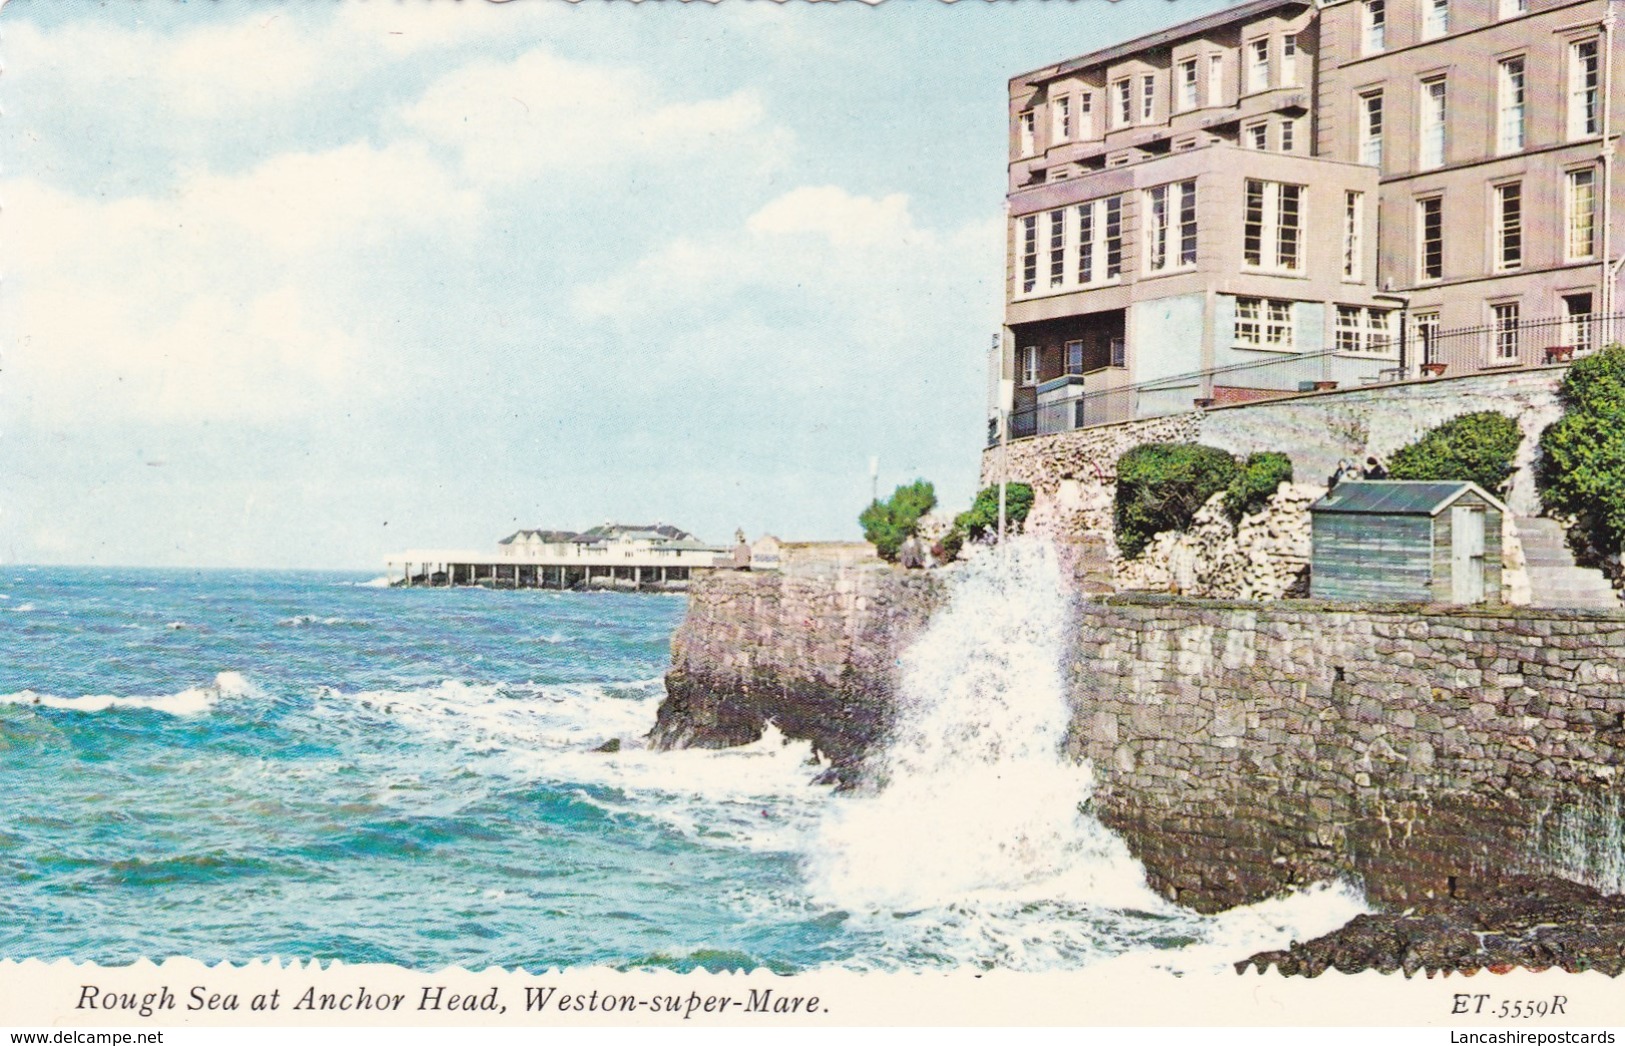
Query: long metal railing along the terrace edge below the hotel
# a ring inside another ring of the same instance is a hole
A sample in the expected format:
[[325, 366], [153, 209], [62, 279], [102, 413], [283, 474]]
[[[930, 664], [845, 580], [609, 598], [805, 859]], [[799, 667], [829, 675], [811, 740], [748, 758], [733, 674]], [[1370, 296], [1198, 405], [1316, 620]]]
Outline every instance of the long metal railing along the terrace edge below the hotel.
[[[1092, 372], [1082, 375], [1084, 391], [1079, 396], [1011, 411], [1009, 437], [1020, 440], [1329, 388], [1544, 367], [1586, 356], [1622, 336], [1625, 336], [1625, 313], [1502, 322], [1445, 331], [1412, 323], [1404, 344], [1394, 339], [1370, 341], [1363, 346], [1367, 351], [1332, 346], [1315, 352], [1269, 352], [1261, 359], [1227, 367], [1193, 370], [1116, 388], [1090, 388], [1090, 378], [1107, 375]], [[1118, 369], [1112, 370], [1123, 374]], [[998, 439], [998, 422], [990, 421], [988, 447], [994, 447]]]

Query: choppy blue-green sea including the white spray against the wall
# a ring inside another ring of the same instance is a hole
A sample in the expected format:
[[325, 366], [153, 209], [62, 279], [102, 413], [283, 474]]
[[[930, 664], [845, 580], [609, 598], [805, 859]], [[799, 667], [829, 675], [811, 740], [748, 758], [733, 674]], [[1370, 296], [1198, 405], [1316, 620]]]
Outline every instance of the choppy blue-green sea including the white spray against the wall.
[[0, 958], [1191, 973], [1363, 911], [1154, 893], [1060, 752], [1053, 554], [954, 570], [837, 794], [772, 726], [645, 747], [681, 594], [0, 567]]

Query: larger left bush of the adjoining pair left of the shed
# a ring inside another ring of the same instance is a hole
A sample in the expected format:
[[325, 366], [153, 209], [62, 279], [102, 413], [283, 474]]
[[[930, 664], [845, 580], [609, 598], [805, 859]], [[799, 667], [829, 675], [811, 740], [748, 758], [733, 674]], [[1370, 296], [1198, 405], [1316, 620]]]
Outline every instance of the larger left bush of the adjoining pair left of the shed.
[[1113, 523], [1123, 555], [1139, 555], [1162, 531], [1185, 529], [1196, 510], [1242, 471], [1201, 443], [1142, 443], [1118, 458]]

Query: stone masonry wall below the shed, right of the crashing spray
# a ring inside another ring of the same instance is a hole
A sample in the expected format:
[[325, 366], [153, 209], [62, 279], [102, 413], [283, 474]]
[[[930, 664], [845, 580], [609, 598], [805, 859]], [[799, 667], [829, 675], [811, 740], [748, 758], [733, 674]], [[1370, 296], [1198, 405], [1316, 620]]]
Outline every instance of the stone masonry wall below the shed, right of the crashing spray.
[[1081, 614], [1069, 750], [1170, 897], [1354, 875], [1402, 903], [1617, 864], [1576, 846], [1618, 836], [1625, 614], [1150, 594]]

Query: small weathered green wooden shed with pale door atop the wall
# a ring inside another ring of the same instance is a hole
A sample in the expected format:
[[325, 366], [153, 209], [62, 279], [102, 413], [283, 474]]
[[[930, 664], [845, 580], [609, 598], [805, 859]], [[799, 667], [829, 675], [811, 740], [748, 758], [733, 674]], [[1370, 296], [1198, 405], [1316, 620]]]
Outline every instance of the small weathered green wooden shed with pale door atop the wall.
[[1310, 594], [1500, 603], [1506, 505], [1474, 482], [1350, 481], [1310, 505]]

